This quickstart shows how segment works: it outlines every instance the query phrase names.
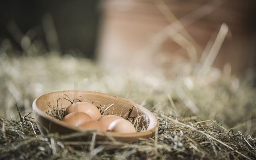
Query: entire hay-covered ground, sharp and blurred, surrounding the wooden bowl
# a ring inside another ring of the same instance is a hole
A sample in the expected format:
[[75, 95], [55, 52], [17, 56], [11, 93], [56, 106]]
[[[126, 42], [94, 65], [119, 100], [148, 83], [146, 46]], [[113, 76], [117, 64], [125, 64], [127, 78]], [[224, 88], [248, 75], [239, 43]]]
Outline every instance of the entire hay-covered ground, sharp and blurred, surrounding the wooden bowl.
[[[228, 69], [210, 68], [202, 77], [196, 69], [201, 64], [186, 60], [150, 71], [112, 72], [85, 58], [34, 54], [36, 48], [19, 57], [10, 54], [16, 51], [8, 40], [0, 48], [0, 159], [256, 159], [253, 72], [241, 79]], [[111, 151], [100, 142], [41, 135], [32, 102], [58, 90], [132, 100], [152, 110], [160, 128], [150, 139], [113, 141], [122, 147]]]

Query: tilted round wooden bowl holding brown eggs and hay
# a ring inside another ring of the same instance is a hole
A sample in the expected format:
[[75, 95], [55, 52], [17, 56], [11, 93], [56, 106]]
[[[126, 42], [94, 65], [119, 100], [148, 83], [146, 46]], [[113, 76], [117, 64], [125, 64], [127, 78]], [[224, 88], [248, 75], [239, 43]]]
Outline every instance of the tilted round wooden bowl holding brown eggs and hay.
[[[47, 112], [50, 112], [52, 110], [50, 106], [57, 106], [58, 98], [63, 97], [61, 100], [58, 101], [59, 108], [61, 105], [62, 107], [69, 106], [71, 102], [64, 99], [68, 98], [67, 96], [71, 100], [78, 98], [79, 100], [86, 101], [85, 99], [83, 99], [86, 98], [90, 102], [98, 101], [102, 106], [109, 106], [110, 104], [114, 104], [114, 106], [106, 110], [105, 114], [117, 113], [118, 115], [124, 115], [125, 113], [128, 113], [131, 108], [133, 108], [130, 111], [130, 117], [136, 117], [137, 115], [144, 114], [144, 116], [142, 116], [142, 119], [148, 121], [147, 129], [136, 133], [120, 134], [115, 132], [96, 132], [97, 141], [109, 141], [110, 139], [112, 139], [109, 137], [113, 137], [115, 140], [121, 142], [131, 142], [137, 140], [138, 138], [149, 138], [154, 136], [156, 129], [158, 129], [159, 127], [159, 122], [157, 118], [152, 114], [152, 112], [140, 106], [139, 104], [136, 104], [124, 98], [111, 96], [109, 94], [103, 94], [99, 92], [68, 90], [47, 93], [39, 96], [38, 98], [36, 98], [36, 100], [34, 100], [33, 114], [38, 129], [42, 134], [58, 132], [60, 135], [65, 135], [77, 132], [81, 136], [74, 136], [74, 138], [70, 138], [68, 140], [91, 140], [93, 132], [89, 132], [88, 134], [82, 134], [84, 130], [82, 130], [81, 128], [62, 122], [61, 120], [53, 118], [52, 116], [49, 116], [47, 114]], [[80, 96], [83, 98], [81, 98]]]

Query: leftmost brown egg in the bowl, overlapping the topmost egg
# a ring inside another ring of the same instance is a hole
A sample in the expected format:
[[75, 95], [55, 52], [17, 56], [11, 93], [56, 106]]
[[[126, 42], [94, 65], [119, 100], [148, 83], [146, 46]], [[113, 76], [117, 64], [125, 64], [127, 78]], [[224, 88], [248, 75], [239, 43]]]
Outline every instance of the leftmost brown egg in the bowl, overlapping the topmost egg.
[[91, 120], [91, 119], [92, 118], [84, 112], [72, 112], [72, 113], [64, 116], [62, 121], [75, 126], [81, 122], [84, 122], [86, 120]]

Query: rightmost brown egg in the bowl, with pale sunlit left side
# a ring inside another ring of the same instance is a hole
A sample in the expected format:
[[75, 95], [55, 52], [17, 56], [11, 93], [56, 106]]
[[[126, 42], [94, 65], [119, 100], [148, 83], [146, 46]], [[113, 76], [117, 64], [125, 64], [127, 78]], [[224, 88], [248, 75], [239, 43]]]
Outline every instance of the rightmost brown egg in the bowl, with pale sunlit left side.
[[109, 131], [118, 133], [135, 133], [136, 129], [133, 124], [125, 119], [114, 120], [108, 127]]

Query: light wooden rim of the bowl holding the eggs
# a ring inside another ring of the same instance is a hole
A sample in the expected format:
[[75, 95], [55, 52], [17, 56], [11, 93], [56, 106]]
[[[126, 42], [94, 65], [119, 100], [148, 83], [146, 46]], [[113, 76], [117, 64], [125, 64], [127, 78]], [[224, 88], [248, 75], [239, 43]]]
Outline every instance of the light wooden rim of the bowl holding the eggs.
[[[53, 121], [54, 123], [56, 123], [56, 124], [58, 124], [62, 127], [70, 128], [70, 129], [72, 129], [76, 132], [85, 132], [86, 130], [83, 130], [79, 127], [75, 127], [75, 126], [72, 126], [71, 124], [62, 122], [61, 120], [58, 120], [57, 118], [54, 118], [54, 117], [48, 115], [46, 112], [43, 112], [42, 110], [40, 110], [37, 107], [36, 102], [42, 96], [46, 96], [48, 94], [60, 93], [60, 92], [63, 92], [63, 94], [64, 94], [64, 92], [88, 92], [88, 93], [94, 93], [94, 94], [101, 94], [101, 95], [112, 96], [112, 97], [115, 97], [115, 98], [120, 98], [122, 100], [126, 100], [129, 103], [136, 104], [135, 102], [132, 102], [132, 101], [127, 100], [127, 99], [122, 98], [122, 97], [118, 97], [118, 96], [114, 96], [114, 95], [106, 94], [106, 93], [101, 93], [101, 92], [87, 91], [87, 90], [62, 90], [62, 91], [48, 92], [46, 94], [42, 94], [41, 96], [38, 96], [34, 100], [34, 102], [32, 104], [33, 112], [36, 112], [37, 114], [39, 114], [40, 116], [42, 116], [43, 118], [45, 118], [49, 121]], [[65, 93], [65, 94], [67, 94], [67, 93]], [[156, 118], [156, 116], [150, 110], [141, 106], [140, 104], [136, 104], [136, 107], [142, 108], [142, 110], [146, 110], [147, 113], [150, 114], [149, 119], [153, 120], [153, 123], [150, 123], [151, 124], [151, 129], [143, 130], [143, 131], [136, 132], [136, 133], [115, 133], [115, 132], [106, 132], [106, 133], [109, 134], [110, 136], [113, 136], [113, 137], [124, 137], [124, 138], [125, 137], [131, 137], [131, 136], [132, 137], [140, 137], [140, 136], [144, 136], [144, 135], [148, 135], [148, 134], [151, 134], [151, 135], [154, 134], [156, 132], [156, 130], [158, 129], [158, 127], [159, 127], [158, 119]], [[35, 117], [35, 120], [36, 120], [36, 117]], [[40, 124], [40, 122], [37, 122], [37, 121], [36, 121], [36, 123]], [[105, 132], [97, 132], [97, 134], [100, 134], [100, 135], [106, 135], [106, 133]]]

